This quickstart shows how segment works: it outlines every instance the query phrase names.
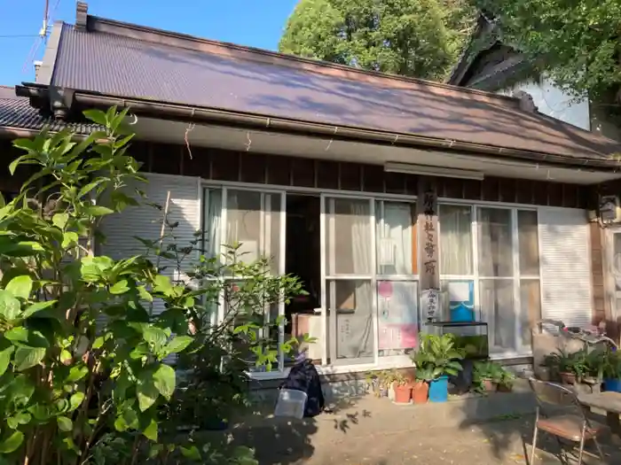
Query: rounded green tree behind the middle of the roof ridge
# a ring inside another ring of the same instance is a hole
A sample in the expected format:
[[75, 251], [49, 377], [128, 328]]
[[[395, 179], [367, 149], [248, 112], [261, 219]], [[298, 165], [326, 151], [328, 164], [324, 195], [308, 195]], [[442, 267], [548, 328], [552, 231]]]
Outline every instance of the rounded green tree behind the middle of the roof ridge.
[[466, 0], [301, 0], [279, 50], [440, 80], [459, 55], [473, 18]]

